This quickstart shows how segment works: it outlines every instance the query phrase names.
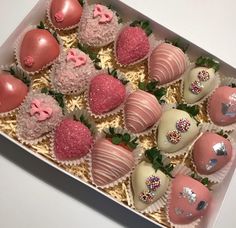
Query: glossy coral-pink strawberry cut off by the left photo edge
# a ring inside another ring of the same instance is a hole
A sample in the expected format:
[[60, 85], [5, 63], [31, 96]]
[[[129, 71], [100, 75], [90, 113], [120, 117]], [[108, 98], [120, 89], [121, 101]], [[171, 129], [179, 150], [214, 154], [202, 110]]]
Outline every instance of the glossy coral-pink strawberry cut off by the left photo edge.
[[9, 73], [0, 73], [0, 113], [9, 112], [25, 99], [28, 87]]

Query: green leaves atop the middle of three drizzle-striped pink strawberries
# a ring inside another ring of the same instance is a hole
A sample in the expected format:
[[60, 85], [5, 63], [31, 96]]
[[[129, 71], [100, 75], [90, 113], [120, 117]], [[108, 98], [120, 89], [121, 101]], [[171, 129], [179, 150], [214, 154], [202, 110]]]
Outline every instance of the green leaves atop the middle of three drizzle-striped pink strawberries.
[[157, 88], [157, 84], [157, 81], [139, 82], [138, 87], [143, 91], [153, 94], [160, 103], [165, 103], [165, 100], [162, 98], [166, 95], [167, 90], [164, 87]]

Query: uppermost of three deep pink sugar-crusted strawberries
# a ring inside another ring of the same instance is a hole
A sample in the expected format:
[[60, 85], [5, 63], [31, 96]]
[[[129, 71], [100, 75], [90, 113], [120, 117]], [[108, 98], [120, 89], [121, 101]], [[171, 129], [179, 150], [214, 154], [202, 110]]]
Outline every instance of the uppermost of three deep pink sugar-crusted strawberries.
[[150, 44], [143, 29], [126, 27], [119, 34], [115, 48], [118, 62], [128, 65], [147, 56]]

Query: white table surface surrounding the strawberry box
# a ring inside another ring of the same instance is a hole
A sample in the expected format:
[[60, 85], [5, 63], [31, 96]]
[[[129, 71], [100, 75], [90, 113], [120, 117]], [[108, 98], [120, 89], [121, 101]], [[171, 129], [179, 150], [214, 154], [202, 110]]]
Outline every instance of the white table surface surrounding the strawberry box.
[[[37, 0], [2, 0], [0, 45]], [[124, 0], [236, 67], [234, 0]], [[145, 3], [145, 4], [144, 4]], [[236, 189], [236, 180], [231, 184]], [[235, 227], [227, 195], [215, 228]], [[156, 227], [0, 137], [0, 227]]]

